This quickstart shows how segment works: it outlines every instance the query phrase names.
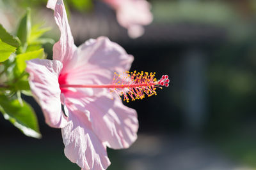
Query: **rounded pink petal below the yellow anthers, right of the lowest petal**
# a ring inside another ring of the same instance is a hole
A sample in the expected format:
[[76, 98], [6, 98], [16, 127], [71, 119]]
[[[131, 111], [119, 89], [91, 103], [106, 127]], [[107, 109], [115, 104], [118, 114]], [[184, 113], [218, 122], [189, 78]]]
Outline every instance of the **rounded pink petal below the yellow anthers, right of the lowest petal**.
[[[109, 148], [128, 148], [137, 139], [138, 118], [135, 110], [124, 106], [119, 97], [84, 97], [67, 100], [77, 110], [88, 110], [86, 116], [92, 122], [93, 132]], [[89, 112], [89, 113], [88, 113]]]

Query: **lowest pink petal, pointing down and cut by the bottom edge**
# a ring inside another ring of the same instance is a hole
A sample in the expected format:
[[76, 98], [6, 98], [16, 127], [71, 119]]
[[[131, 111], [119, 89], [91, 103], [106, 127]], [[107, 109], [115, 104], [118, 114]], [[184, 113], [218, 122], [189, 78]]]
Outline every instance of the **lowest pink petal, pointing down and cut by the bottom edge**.
[[82, 169], [106, 169], [110, 165], [106, 146], [93, 133], [83, 112], [71, 112], [68, 125], [61, 129], [66, 157]]

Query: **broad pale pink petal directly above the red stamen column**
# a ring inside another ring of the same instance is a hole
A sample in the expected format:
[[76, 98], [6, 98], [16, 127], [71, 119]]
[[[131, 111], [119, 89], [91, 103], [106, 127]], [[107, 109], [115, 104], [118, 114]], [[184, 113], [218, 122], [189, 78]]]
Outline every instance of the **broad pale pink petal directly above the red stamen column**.
[[129, 70], [132, 61], [132, 55], [128, 55], [124, 48], [100, 37], [79, 46], [62, 73], [67, 73], [67, 83], [107, 84], [112, 82], [115, 72]]

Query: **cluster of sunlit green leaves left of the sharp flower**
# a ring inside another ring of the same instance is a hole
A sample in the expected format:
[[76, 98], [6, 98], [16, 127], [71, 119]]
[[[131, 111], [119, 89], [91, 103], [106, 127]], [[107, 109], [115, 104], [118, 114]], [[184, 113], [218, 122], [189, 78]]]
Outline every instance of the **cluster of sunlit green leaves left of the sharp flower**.
[[45, 59], [42, 45], [54, 41], [41, 38], [49, 28], [41, 28], [42, 24], [31, 25], [29, 8], [20, 20], [17, 36], [13, 37], [0, 25], [0, 111], [26, 136], [41, 138], [35, 111], [21, 94], [31, 96], [26, 60]]

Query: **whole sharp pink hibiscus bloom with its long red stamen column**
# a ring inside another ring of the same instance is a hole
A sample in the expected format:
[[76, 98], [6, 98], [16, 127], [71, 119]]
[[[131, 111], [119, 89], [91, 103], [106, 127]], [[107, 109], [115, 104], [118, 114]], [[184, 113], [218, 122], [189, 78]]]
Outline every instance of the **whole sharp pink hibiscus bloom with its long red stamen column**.
[[133, 57], [108, 38], [74, 45], [62, 0], [54, 18], [61, 36], [53, 46], [53, 60], [27, 61], [31, 92], [45, 122], [61, 128], [66, 157], [82, 169], [106, 169], [106, 147], [128, 148], [138, 131], [136, 111], [116, 94], [127, 101], [151, 96], [156, 87], [168, 86], [168, 76], [157, 81], [152, 73], [129, 74]]

